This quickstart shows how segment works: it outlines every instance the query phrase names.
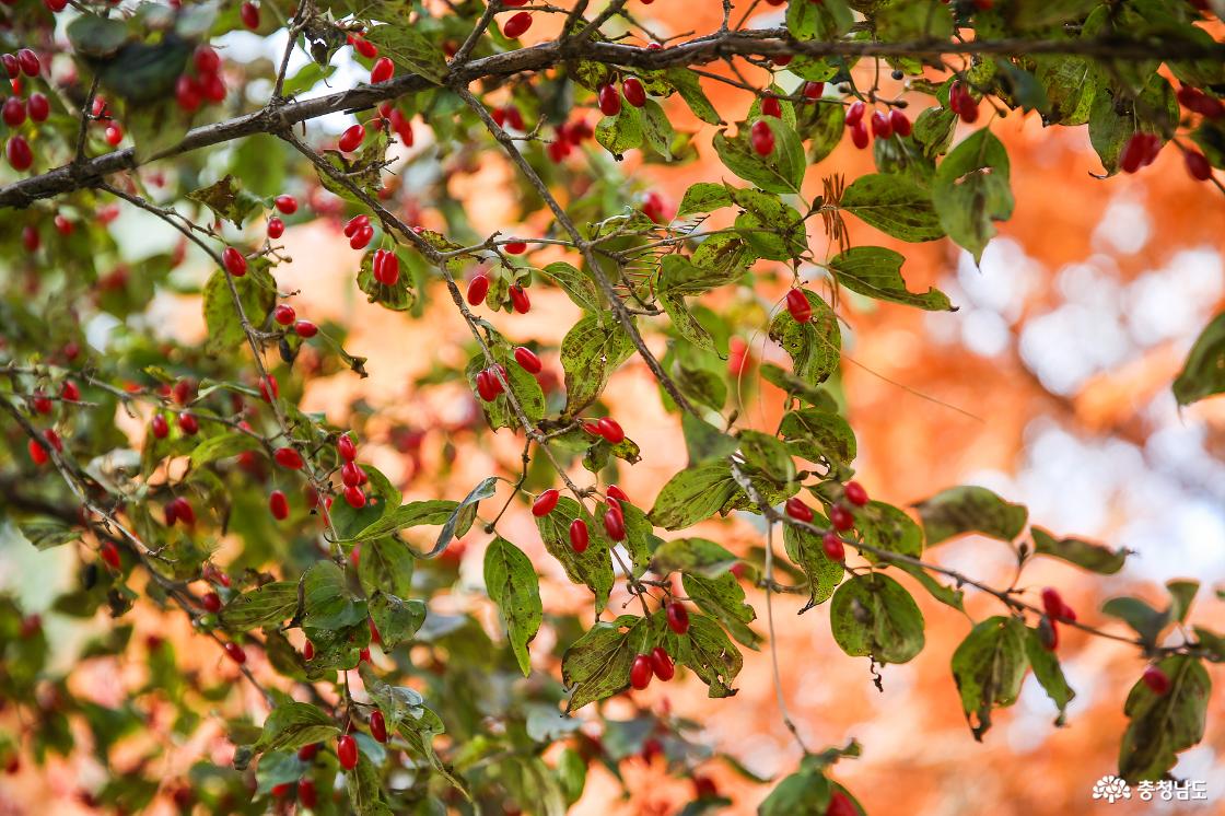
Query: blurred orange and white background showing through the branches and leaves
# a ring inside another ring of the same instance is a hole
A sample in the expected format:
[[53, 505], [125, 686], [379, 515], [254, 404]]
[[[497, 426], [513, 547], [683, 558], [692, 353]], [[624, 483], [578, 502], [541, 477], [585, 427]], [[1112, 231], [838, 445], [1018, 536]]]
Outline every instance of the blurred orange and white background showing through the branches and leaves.
[[[664, 1], [641, 16], [660, 36], [702, 32], [718, 25], [718, 4]], [[767, 21], [768, 15], [762, 15], [762, 22]], [[224, 45], [229, 58], [254, 59], [278, 54], [282, 43], [232, 34]], [[331, 83], [342, 87], [354, 78], [356, 72], [342, 70]], [[720, 110], [747, 108], [748, 97], [735, 88], [710, 83], [708, 91]], [[249, 92], [257, 94], [258, 88]], [[624, 172], [638, 190], [655, 189], [677, 201], [688, 184], [717, 180], [725, 172], [708, 148], [712, 129], [699, 126], [676, 105], [671, 110], [680, 126], [699, 131], [701, 159], [665, 168], [639, 165], [631, 156]], [[339, 132], [345, 124], [336, 116], [312, 127]], [[1027, 504], [1031, 521], [1057, 534], [1134, 550], [1125, 570], [1106, 578], [1060, 562], [1030, 565], [1025, 586], [1058, 587], [1082, 620], [1122, 633], [1120, 625], [1098, 611], [1106, 598], [1138, 594], [1161, 603], [1163, 582], [1193, 577], [1204, 588], [1192, 620], [1219, 626], [1225, 620], [1225, 603], [1215, 597], [1216, 589], [1225, 588], [1225, 398], [1178, 410], [1169, 386], [1193, 338], [1225, 304], [1225, 196], [1212, 185], [1192, 181], [1172, 149], [1137, 176], [1101, 180], [1094, 176], [1101, 168], [1084, 129], [1045, 130], [1036, 115], [1019, 114], [992, 120], [991, 126], [1012, 158], [1017, 208], [980, 267], [949, 243], [900, 245], [862, 224], [850, 224], [853, 243], [893, 246], [907, 255], [904, 271], [911, 288], [937, 285], [959, 306], [952, 314], [925, 314], [843, 294], [842, 396], [860, 444], [858, 478], [873, 496], [902, 506], [943, 486], [982, 484]], [[428, 129], [419, 129], [412, 154], [429, 149]], [[853, 179], [871, 169], [871, 158], [845, 143], [810, 173], [806, 192], [818, 194], [823, 175]], [[404, 173], [399, 184], [413, 185], [414, 173], [420, 172]], [[478, 229], [516, 227], [511, 170], [496, 156], [483, 157], [469, 173], [453, 178], [451, 191], [467, 202]], [[414, 219], [441, 225], [431, 218], [429, 201], [418, 205]], [[535, 224], [545, 227], [545, 222]], [[131, 260], [176, 243], [160, 224], [129, 210], [115, 229]], [[816, 224], [810, 238], [821, 255], [820, 243], [826, 239]], [[283, 243], [294, 262], [278, 277], [283, 289], [300, 289], [294, 301], [299, 315], [352, 327], [347, 347], [369, 358], [371, 372], [368, 380], [345, 372], [314, 381], [305, 408], [344, 421], [355, 399], [374, 406], [368, 435], [379, 440], [380, 429], [387, 433], [382, 444], [366, 452], [376, 467], [401, 480], [405, 497], [453, 496], [491, 470], [517, 472], [519, 442], [513, 437], [503, 433], [490, 441], [485, 435], [478, 442], [462, 430], [479, 417], [470, 395], [458, 386], [414, 386], [437, 363], [463, 364], [467, 328], [450, 304], [436, 299], [419, 321], [366, 304], [353, 285], [358, 255], [328, 219], [293, 227]], [[202, 279], [207, 272], [196, 259], [181, 274]], [[813, 287], [822, 285], [817, 270], [806, 270], [805, 276]], [[773, 299], [784, 285], [780, 277], [775, 290], [760, 292], [763, 305], [777, 306]], [[573, 322], [575, 309], [557, 290], [535, 288], [532, 297], [529, 315], [499, 315], [494, 322], [514, 341], [556, 346]], [[190, 297], [158, 295], [148, 319], [167, 336], [203, 336], [198, 301]], [[762, 331], [751, 338], [750, 359], [785, 365], [785, 357], [766, 339], [764, 325], [763, 320]], [[108, 326], [91, 325], [88, 331], [91, 342], [104, 347]], [[545, 355], [545, 360], [560, 375], [556, 357]], [[745, 368], [742, 386], [742, 423], [773, 426], [782, 395], [757, 381], [755, 365]], [[626, 433], [647, 452], [620, 478], [643, 505], [685, 464], [677, 421], [663, 412], [657, 393], [646, 368], [631, 359], [605, 397]], [[390, 429], [398, 426], [424, 434], [419, 450], [405, 452], [404, 445], [397, 446]], [[549, 578], [546, 610], [577, 609], [584, 603], [586, 593], [565, 583], [539, 544], [526, 508], [512, 511], [506, 534]], [[737, 553], [763, 540], [762, 529], [747, 517], [710, 524], [699, 534], [718, 538]], [[36, 553], [7, 528], [0, 528], [0, 584], [18, 592], [28, 609], [45, 606], [70, 581], [72, 553]], [[481, 603], [484, 544], [478, 534], [466, 540], [464, 582], [447, 603]], [[974, 537], [941, 545], [929, 557], [1001, 586], [1013, 569], [1006, 546]], [[224, 562], [224, 553], [218, 560]], [[875, 689], [866, 662], [845, 657], [833, 643], [824, 608], [797, 618], [796, 598], [774, 600], [783, 690], [801, 735], [810, 747], [853, 738], [862, 744], [864, 756], [840, 763], [835, 776], [869, 812], [1225, 812], [1225, 693], [1219, 691], [1225, 671], [1220, 668], [1210, 668], [1218, 692], [1205, 739], [1175, 768], [1180, 777], [1207, 782], [1208, 800], [1095, 803], [1093, 783], [1116, 767], [1126, 724], [1122, 701], [1144, 668], [1136, 652], [1065, 630], [1061, 658], [1077, 691], [1067, 725], [1052, 724], [1055, 708], [1029, 678], [1016, 707], [1000, 712], [985, 742], [978, 744], [962, 719], [948, 668], [971, 624], [922, 593], [918, 598], [927, 620], [927, 647], [913, 663], [888, 667], [883, 691]], [[763, 613], [763, 598], [753, 600]], [[998, 611], [993, 599], [973, 591], [967, 602], [976, 619]], [[181, 615], [134, 614], [138, 632], [191, 637]], [[496, 624], [496, 616], [489, 620]], [[44, 616], [44, 622], [65, 654], [75, 640], [89, 635], [54, 615]], [[764, 631], [764, 621], [760, 624]], [[97, 622], [97, 629], [104, 626], [105, 621]], [[545, 636], [537, 641], [541, 653], [550, 646]], [[189, 669], [214, 676], [234, 674], [214, 649], [200, 652], [180, 651]], [[252, 663], [258, 673], [260, 658]], [[138, 657], [130, 663], [94, 660], [80, 667], [75, 684], [104, 705], [118, 705], [125, 685], [138, 681], [141, 670]], [[723, 701], [707, 700], [701, 685], [687, 680], [666, 689], [657, 684], [647, 698], [703, 723], [712, 746], [755, 773], [790, 772], [799, 750], [779, 717], [768, 651], [746, 654], [737, 685], [739, 695]], [[254, 697], [246, 702], [260, 706]], [[157, 711], [149, 713], [147, 739], [160, 739], [159, 725], [164, 734], [165, 723], [157, 717]], [[11, 713], [0, 713], [0, 722], [18, 727]], [[167, 752], [165, 774], [181, 773], [200, 756], [228, 762], [232, 751], [221, 729], [205, 723], [190, 741]], [[752, 812], [769, 790], [718, 762], [707, 772], [734, 800], [728, 812]], [[87, 812], [76, 791], [100, 773], [83, 752], [69, 761], [54, 760], [43, 769], [23, 767], [0, 777], [0, 815]], [[662, 763], [636, 763], [626, 773], [635, 791], [631, 800], [620, 798], [611, 777], [593, 771], [576, 812], [671, 814], [691, 796], [688, 784], [670, 780]]]

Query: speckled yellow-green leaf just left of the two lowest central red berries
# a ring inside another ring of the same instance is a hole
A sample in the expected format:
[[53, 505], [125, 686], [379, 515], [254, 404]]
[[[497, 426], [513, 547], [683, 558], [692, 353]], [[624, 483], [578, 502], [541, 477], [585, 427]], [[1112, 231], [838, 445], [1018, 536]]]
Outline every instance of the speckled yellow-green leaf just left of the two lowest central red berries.
[[630, 665], [635, 655], [646, 651], [647, 630], [646, 619], [631, 615], [611, 624], [595, 621], [566, 649], [561, 678], [570, 690], [567, 712], [611, 697], [630, 685]]

